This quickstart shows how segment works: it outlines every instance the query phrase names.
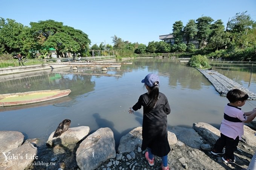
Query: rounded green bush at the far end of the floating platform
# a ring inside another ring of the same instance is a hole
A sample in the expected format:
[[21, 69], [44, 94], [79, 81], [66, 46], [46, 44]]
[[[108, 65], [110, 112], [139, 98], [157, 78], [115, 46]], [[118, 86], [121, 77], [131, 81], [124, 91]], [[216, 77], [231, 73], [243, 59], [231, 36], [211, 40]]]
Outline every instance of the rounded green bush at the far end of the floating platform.
[[210, 68], [209, 61], [206, 56], [198, 54], [197, 56], [192, 56], [187, 65], [196, 67], [196, 68]]

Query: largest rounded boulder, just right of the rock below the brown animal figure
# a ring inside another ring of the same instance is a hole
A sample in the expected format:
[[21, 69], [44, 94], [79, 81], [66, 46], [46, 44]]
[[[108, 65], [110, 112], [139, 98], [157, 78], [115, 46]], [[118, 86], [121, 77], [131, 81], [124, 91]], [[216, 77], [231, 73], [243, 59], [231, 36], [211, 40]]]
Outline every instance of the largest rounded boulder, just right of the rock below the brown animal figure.
[[96, 169], [102, 162], [116, 157], [114, 134], [100, 128], [85, 138], [76, 150], [76, 163], [81, 170]]

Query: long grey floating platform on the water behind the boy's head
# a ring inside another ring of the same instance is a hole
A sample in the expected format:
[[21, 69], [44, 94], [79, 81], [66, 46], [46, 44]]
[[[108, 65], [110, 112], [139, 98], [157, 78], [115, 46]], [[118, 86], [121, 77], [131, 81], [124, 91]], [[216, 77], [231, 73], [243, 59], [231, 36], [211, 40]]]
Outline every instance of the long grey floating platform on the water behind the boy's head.
[[198, 69], [215, 87], [216, 91], [221, 96], [226, 96], [227, 92], [232, 89], [240, 89], [246, 92], [249, 96], [249, 100], [256, 100], [256, 94], [242, 86], [241, 84], [236, 83], [235, 81], [227, 78], [226, 76], [218, 73], [217, 71], [213, 70], [205, 70], [205, 69]]

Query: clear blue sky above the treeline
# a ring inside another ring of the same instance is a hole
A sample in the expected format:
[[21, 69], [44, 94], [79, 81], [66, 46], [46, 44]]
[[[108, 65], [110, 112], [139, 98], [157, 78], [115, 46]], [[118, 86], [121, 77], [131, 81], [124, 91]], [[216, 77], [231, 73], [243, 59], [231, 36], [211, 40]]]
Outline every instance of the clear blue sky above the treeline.
[[30, 22], [62, 22], [86, 33], [91, 45], [113, 45], [114, 35], [148, 45], [171, 33], [175, 21], [186, 26], [201, 16], [221, 19], [226, 27], [229, 18], [248, 11], [256, 21], [256, 0], [0, 0], [0, 5], [2, 18], [29, 27]]

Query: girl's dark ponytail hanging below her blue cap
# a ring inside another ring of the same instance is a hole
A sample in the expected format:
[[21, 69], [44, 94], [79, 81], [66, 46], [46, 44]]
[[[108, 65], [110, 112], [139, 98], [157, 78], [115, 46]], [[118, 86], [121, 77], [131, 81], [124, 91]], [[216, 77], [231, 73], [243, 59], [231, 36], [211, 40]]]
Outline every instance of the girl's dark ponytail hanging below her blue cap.
[[147, 110], [152, 110], [155, 107], [155, 104], [157, 103], [158, 100], [158, 95], [159, 95], [159, 87], [158, 87], [159, 82], [155, 81], [154, 86], [149, 87], [150, 88], [150, 93], [148, 94], [149, 102], [146, 105]]

